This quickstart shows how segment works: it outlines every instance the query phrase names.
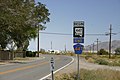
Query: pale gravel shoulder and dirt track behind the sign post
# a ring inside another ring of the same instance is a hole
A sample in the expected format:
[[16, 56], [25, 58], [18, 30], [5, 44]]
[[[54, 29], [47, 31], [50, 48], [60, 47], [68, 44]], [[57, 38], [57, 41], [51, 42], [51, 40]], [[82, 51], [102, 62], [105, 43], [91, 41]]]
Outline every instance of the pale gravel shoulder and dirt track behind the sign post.
[[[62, 69], [61, 71], [57, 72], [56, 75], [60, 75], [63, 73], [72, 73], [77, 71], [77, 59], [74, 57], [74, 62], [69, 65], [68, 67]], [[87, 70], [97, 70], [97, 69], [111, 69], [111, 70], [117, 70], [120, 71], [119, 66], [106, 66], [106, 65], [98, 65], [94, 63], [88, 63], [85, 61], [84, 58], [80, 57], [80, 69], [87, 69]]]

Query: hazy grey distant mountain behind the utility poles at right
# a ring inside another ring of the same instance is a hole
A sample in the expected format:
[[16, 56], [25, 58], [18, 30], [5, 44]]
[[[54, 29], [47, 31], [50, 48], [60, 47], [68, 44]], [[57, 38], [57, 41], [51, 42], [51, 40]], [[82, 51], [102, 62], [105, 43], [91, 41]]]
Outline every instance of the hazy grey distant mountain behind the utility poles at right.
[[[114, 52], [116, 48], [120, 47], [120, 40], [113, 40], [111, 44], [111, 50]], [[98, 50], [105, 49], [109, 50], [109, 42], [101, 42], [98, 44]], [[91, 45], [91, 50], [93, 51], [93, 45]], [[85, 51], [90, 51], [90, 45], [85, 46]], [[97, 51], [97, 44], [94, 44], [94, 51]]]

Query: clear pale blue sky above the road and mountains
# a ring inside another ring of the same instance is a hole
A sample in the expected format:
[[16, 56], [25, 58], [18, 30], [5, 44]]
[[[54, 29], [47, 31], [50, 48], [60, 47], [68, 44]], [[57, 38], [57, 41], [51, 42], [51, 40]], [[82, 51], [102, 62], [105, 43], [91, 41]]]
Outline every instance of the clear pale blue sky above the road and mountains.
[[[40, 32], [73, 34], [73, 22], [84, 21], [85, 34], [109, 33], [112, 40], [120, 40], [120, 0], [35, 0], [45, 4], [50, 12], [50, 22], [46, 30]], [[85, 35], [84, 46], [96, 44], [97, 38], [104, 42], [109, 36]], [[73, 50], [73, 35], [55, 35], [40, 33], [40, 48], [49, 50]], [[31, 40], [29, 50], [37, 50], [37, 39]]]

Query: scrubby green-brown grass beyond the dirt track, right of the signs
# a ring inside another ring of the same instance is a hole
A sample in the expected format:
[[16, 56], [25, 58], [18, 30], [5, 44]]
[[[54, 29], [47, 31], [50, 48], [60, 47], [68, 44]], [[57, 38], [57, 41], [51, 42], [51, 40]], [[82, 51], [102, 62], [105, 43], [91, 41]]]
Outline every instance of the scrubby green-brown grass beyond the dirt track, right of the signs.
[[120, 66], [120, 55], [112, 56], [111, 59], [108, 58], [108, 55], [86, 55], [85, 59], [100, 65]]

